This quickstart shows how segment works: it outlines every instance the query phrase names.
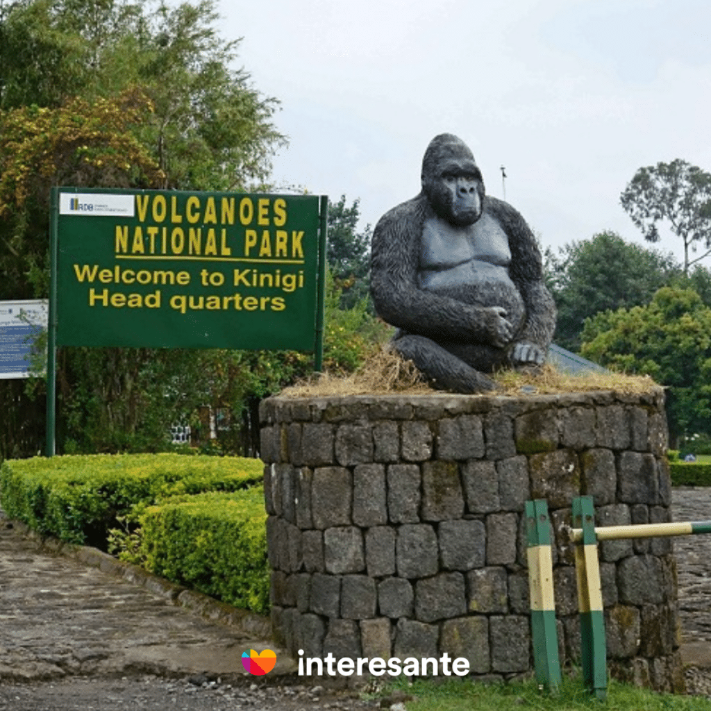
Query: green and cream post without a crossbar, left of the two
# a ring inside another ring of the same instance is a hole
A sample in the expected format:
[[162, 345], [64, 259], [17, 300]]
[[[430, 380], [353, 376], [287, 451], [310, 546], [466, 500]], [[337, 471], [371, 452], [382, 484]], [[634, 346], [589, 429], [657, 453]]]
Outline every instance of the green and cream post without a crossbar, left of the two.
[[535, 678], [547, 690], [555, 691], [561, 675], [547, 504], [526, 501], [525, 515]]

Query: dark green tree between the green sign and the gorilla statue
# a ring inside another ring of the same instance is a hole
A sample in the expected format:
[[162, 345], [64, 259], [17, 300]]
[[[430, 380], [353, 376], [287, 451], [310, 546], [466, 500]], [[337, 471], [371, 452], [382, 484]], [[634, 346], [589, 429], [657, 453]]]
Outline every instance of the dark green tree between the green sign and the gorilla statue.
[[346, 207], [346, 196], [328, 201], [328, 248], [326, 260], [333, 280], [342, 289], [339, 305], [352, 309], [368, 300], [370, 287], [370, 225], [356, 232], [360, 220], [359, 201]]

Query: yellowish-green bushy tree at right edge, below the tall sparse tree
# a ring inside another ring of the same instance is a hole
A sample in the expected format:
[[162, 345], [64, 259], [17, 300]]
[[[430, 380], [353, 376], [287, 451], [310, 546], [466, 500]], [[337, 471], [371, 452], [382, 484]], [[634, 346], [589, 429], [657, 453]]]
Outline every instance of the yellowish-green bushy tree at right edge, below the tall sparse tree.
[[673, 445], [685, 433], [711, 432], [711, 309], [696, 292], [663, 287], [647, 306], [597, 314], [582, 341], [586, 358], [668, 386]]

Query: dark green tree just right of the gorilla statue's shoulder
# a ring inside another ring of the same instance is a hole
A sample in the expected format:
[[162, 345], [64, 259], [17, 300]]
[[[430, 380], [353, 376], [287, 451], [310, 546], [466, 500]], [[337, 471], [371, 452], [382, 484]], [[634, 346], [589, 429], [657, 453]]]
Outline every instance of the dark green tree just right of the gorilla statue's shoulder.
[[670, 255], [624, 242], [615, 232], [546, 254], [547, 285], [558, 309], [555, 343], [579, 351], [585, 319], [599, 311], [641, 306], [680, 272]]

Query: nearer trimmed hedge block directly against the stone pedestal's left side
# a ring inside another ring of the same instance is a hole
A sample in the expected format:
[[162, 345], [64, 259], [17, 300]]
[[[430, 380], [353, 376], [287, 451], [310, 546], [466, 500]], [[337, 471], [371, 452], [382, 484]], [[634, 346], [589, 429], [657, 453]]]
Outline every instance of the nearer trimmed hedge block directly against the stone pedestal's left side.
[[169, 499], [139, 520], [146, 570], [237, 607], [269, 611], [262, 486]]

